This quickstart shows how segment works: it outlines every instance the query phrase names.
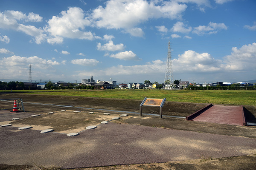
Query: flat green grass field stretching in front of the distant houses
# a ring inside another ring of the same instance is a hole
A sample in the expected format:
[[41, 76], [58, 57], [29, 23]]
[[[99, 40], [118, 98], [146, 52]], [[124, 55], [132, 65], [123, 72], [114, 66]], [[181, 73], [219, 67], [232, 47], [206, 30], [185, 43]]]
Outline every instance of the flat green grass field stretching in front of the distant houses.
[[[24, 92], [24, 91], [22, 91]], [[256, 106], [256, 91], [221, 91], [221, 90], [76, 90], [76, 91], [26, 91], [31, 94], [102, 97], [115, 99], [137, 99], [145, 97], [166, 98], [171, 102], [213, 103], [229, 105]]]

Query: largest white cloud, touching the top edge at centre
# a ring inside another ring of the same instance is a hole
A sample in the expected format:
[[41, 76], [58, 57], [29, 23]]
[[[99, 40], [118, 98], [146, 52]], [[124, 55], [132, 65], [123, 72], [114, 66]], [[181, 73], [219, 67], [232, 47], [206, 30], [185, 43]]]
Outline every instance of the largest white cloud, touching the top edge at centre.
[[132, 36], [143, 37], [143, 30], [135, 26], [151, 18], [178, 19], [186, 7], [176, 1], [109, 0], [105, 8], [94, 9], [91, 17], [99, 28], [123, 28]]

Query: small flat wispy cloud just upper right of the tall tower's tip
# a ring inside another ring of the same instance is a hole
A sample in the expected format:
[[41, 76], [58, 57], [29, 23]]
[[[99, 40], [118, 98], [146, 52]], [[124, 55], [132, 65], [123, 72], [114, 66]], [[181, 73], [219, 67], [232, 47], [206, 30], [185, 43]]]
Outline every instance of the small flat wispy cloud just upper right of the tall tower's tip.
[[204, 34], [216, 34], [219, 30], [227, 30], [227, 26], [224, 23], [212, 23], [210, 22], [208, 26], [198, 26], [195, 27], [192, 33], [198, 35]]

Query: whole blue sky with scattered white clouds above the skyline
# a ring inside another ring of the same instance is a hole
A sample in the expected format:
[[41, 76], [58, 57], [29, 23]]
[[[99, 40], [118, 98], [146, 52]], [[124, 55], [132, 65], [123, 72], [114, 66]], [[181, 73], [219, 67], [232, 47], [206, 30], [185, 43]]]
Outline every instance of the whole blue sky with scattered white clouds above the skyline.
[[255, 0], [0, 0], [0, 81], [256, 79]]

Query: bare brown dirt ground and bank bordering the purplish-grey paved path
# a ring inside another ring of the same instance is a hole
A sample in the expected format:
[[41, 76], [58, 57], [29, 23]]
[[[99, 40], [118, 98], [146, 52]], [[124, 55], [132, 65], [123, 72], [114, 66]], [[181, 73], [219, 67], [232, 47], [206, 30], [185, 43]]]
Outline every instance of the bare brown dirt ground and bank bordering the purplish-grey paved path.
[[[103, 99], [88, 98], [74, 96], [47, 96], [47, 95], [29, 95], [29, 94], [0, 94], [0, 99], [21, 98], [24, 102], [26, 112], [41, 114], [38, 117], [29, 117], [16, 121], [7, 121], [17, 127], [33, 126], [33, 129], [43, 130], [52, 128], [59, 133], [78, 133], [90, 125], [98, 125], [104, 120], [110, 121], [111, 118], [118, 117], [120, 114], [128, 114], [122, 116], [122, 119], [111, 120], [111, 122], [119, 124], [143, 125], [156, 128], [167, 128], [177, 130], [189, 130], [201, 133], [212, 133], [227, 136], [241, 136], [256, 139], [256, 127], [253, 126], [235, 126], [224, 125], [207, 122], [187, 121], [182, 118], [174, 118], [167, 116], [186, 117], [195, 111], [204, 108], [208, 104], [201, 103], [182, 103], [182, 102], [166, 102], [163, 106], [163, 119], [159, 116], [150, 114], [159, 114], [158, 107], [143, 106], [143, 116], [139, 116], [139, 106], [142, 101], [128, 99]], [[42, 103], [50, 105], [38, 105], [33, 103]], [[58, 106], [57, 106], [58, 105]], [[81, 108], [61, 107], [74, 106]], [[87, 108], [87, 109], [86, 109]], [[93, 108], [89, 109], [89, 108]], [[256, 122], [256, 107], [244, 106], [246, 120], [248, 122]], [[105, 111], [105, 110], [113, 111]], [[61, 111], [66, 110], [66, 111]], [[74, 113], [73, 111], [81, 111]], [[89, 114], [88, 112], [94, 112]], [[118, 112], [120, 111], [120, 112]], [[134, 112], [122, 113], [121, 111]], [[49, 112], [54, 112], [48, 114]], [[110, 113], [105, 115], [104, 113]], [[137, 114], [136, 114], [137, 113]], [[1, 124], [4, 124], [1, 122]], [[0, 164], [0, 170], [3, 169], [29, 169], [26, 165], [6, 165]], [[35, 168], [35, 167], [34, 167]], [[43, 169], [38, 167], [38, 169]], [[57, 169], [57, 168], [51, 168]], [[119, 165], [110, 167], [84, 168], [84, 170], [112, 170], [112, 169], [140, 169], [140, 170], [167, 170], [167, 169], [256, 169], [256, 153], [248, 156], [239, 156], [222, 159], [202, 158], [188, 161], [173, 161], [159, 164], [134, 164]]]

